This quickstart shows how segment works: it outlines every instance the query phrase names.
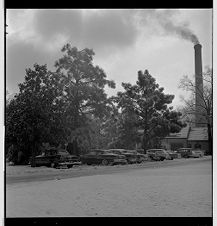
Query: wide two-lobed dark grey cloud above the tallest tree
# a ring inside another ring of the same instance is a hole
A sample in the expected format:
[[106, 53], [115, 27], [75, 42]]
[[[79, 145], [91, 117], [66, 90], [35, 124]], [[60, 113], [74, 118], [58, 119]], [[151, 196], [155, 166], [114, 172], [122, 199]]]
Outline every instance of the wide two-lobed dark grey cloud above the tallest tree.
[[62, 34], [69, 38], [69, 42], [95, 51], [134, 44], [138, 32], [133, 11], [100, 10], [88, 14], [84, 17], [81, 10], [37, 11], [33, 26], [44, 41]]

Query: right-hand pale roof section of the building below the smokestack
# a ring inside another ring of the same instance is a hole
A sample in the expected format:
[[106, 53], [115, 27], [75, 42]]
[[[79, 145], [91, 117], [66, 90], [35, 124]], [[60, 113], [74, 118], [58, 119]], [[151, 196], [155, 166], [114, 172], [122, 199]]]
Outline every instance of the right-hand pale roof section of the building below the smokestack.
[[208, 133], [207, 133], [207, 127], [195, 127], [191, 128], [188, 141], [207, 141], [208, 140]]

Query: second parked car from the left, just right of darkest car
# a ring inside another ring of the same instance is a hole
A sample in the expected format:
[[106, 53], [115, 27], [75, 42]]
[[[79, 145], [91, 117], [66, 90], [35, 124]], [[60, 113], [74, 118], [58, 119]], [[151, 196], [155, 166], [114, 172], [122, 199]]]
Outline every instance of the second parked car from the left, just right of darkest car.
[[115, 165], [126, 164], [127, 160], [124, 155], [118, 155], [109, 152], [108, 150], [95, 149], [91, 150], [88, 154], [80, 156], [83, 164], [102, 164], [102, 165]]

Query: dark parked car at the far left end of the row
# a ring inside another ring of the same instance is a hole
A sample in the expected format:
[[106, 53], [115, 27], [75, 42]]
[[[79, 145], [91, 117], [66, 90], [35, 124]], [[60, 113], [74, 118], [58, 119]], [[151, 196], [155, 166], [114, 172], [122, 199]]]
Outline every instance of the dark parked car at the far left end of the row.
[[[35, 162], [35, 164], [34, 164]], [[30, 159], [31, 166], [49, 166], [53, 168], [58, 167], [72, 167], [73, 165], [80, 165], [79, 157], [70, 155], [65, 150], [58, 150], [56, 148], [46, 149], [41, 155]]]

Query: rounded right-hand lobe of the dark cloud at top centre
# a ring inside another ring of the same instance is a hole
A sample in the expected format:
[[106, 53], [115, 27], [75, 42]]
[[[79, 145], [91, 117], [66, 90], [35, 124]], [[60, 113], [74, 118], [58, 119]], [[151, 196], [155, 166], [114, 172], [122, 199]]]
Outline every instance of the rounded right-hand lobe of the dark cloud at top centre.
[[93, 47], [128, 47], [135, 43], [137, 35], [133, 14], [127, 11], [108, 11], [85, 22], [84, 40]]

